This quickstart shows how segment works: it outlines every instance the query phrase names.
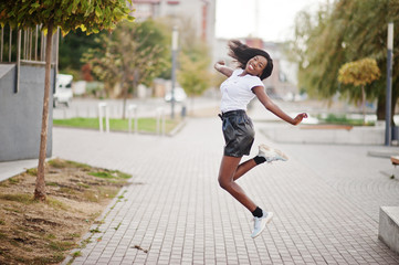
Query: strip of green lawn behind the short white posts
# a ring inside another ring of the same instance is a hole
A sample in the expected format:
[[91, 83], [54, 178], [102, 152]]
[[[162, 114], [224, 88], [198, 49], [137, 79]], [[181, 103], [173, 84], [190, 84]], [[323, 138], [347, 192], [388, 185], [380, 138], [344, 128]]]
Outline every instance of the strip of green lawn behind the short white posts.
[[[128, 119], [109, 119], [109, 130], [128, 131]], [[179, 123], [180, 119], [165, 119], [165, 132], [170, 132]], [[53, 125], [73, 128], [99, 129], [98, 118], [53, 119]], [[162, 126], [161, 123], [159, 126]], [[157, 132], [157, 120], [155, 118], [138, 118], [137, 127], [139, 132]], [[105, 129], [105, 118], [103, 120], [103, 128]], [[134, 120], [132, 120], [132, 130], [134, 129]]]

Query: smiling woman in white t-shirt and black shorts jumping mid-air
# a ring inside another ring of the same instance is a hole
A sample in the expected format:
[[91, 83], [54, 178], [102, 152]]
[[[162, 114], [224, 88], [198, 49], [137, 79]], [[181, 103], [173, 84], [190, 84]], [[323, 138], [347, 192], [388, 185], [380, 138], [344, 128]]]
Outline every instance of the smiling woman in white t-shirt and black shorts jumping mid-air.
[[255, 135], [252, 120], [246, 116], [246, 106], [256, 96], [267, 110], [292, 125], [300, 124], [307, 115], [302, 113], [291, 118], [266, 95], [262, 81], [272, 74], [273, 61], [265, 51], [249, 47], [240, 41], [230, 41], [229, 49], [229, 55], [237, 61], [239, 68], [228, 67], [224, 62], [214, 64], [214, 68], [228, 77], [220, 86], [222, 98], [219, 116], [223, 121], [225, 146], [219, 170], [219, 184], [253, 214], [254, 227], [251, 236], [254, 239], [272, 220], [273, 213], [259, 208], [235, 180], [258, 165], [265, 161], [286, 161], [287, 157], [280, 150], [261, 145], [258, 156], [240, 165], [242, 156], [250, 155]]

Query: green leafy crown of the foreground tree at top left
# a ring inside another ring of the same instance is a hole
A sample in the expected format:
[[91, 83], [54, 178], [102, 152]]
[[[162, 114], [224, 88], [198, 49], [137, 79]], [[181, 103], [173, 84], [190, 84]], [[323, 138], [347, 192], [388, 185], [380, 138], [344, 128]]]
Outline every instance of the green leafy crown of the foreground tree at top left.
[[[129, 1], [132, 4], [132, 1]], [[6, 0], [0, 3], [0, 23], [31, 28], [52, 23], [63, 34], [81, 28], [87, 34], [113, 30], [118, 21], [134, 18], [126, 0]]]

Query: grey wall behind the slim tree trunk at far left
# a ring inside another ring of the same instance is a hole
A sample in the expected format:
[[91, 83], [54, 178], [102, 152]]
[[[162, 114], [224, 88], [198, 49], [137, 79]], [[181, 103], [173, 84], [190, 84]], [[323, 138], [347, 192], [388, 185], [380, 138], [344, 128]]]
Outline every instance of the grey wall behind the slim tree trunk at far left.
[[[0, 77], [0, 161], [39, 158], [44, 66], [21, 65], [18, 93], [14, 93], [15, 66], [11, 70], [10, 65], [0, 67], [7, 68]], [[52, 78], [51, 87], [53, 84]], [[49, 103], [48, 157], [52, 155], [52, 91], [51, 88]]]

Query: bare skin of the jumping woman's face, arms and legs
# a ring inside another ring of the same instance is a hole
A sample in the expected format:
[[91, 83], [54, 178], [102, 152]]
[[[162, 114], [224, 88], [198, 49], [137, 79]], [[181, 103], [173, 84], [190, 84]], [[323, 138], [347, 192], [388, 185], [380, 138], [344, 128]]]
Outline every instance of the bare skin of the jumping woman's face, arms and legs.
[[[256, 55], [246, 63], [244, 71], [239, 76], [244, 76], [246, 74], [261, 76], [266, 65], [267, 60], [261, 55]], [[227, 77], [230, 77], [233, 73], [233, 70], [225, 66], [224, 62], [216, 63], [214, 68]], [[256, 95], [259, 100], [267, 110], [272, 112], [274, 115], [288, 124], [298, 125], [304, 118], [307, 118], [306, 113], [301, 113], [296, 115], [295, 118], [290, 117], [272, 102], [262, 86], [253, 87], [252, 92]], [[253, 159], [250, 159], [241, 165], [240, 161], [241, 157], [223, 156], [219, 169], [219, 184], [232, 197], [234, 197], [235, 200], [243, 204], [250, 212], [253, 212], [258, 205], [245, 194], [244, 190], [235, 182], [235, 180], [238, 180], [258, 165]]]

